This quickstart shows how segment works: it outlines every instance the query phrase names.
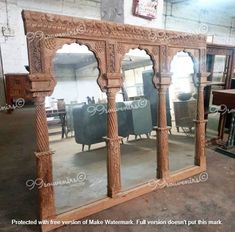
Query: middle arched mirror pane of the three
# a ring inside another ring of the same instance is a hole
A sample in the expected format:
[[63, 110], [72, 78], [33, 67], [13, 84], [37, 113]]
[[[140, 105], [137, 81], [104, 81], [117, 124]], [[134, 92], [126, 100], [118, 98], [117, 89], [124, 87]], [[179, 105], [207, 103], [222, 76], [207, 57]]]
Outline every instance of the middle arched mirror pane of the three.
[[122, 189], [156, 177], [157, 92], [152, 83], [153, 62], [145, 50], [130, 49], [121, 66], [123, 87], [118, 93]]

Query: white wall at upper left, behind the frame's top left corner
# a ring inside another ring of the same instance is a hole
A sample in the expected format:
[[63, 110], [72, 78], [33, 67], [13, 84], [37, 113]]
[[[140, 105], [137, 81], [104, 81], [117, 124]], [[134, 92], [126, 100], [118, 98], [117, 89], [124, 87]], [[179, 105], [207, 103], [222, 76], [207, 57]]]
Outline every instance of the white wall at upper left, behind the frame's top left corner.
[[[24, 68], [24, 65], [28, 64], [28, 56], [21, 17], [23, 9], [100, 19], [100, 0], [7, 0], [7, 2], [6, 6], [5, 0], [0, 0], [0, 46], [4, 73], [27, 73]], [[7, 26], [7, 19], [13, 32], [11, 37], [6, 37], [2, 33], [2, 27]], [[5, 102], [1, 80], [0, 102]]]

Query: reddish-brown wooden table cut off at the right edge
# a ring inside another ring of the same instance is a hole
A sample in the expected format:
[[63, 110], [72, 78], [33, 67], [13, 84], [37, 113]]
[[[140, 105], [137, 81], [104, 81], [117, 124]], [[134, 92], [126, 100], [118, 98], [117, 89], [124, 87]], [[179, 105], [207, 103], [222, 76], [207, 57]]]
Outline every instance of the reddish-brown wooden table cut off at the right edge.
[[212, 92], [214, 105], [223, 106], [222, 114], [232, 114], [226, 149], [235, 146], [235, 89], [215, 90]]

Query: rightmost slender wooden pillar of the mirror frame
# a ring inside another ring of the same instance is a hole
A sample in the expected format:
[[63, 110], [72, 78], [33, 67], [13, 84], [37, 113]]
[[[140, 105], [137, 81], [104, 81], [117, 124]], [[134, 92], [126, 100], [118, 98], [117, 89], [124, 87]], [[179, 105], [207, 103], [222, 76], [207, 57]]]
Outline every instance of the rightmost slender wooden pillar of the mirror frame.
[[195, 165], [206, 168], [205, 157], [205, 125], [204, 119], [204, 88], [206, 86], [209, 73], [198, 73], [198, 100], [196, 116], [196, 141], [195, 141]]

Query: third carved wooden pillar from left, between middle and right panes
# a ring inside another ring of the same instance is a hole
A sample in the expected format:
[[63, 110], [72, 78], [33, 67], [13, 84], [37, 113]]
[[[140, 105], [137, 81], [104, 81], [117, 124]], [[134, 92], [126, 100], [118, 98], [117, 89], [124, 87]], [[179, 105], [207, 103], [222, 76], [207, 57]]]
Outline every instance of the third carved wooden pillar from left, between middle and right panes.
[[158, 112], [157, 112], [157, 178], [169, 176], [169, 148], [166, 116], [166, 92], [170, 85], [170, 73], [161, 73], [157, 82]]

